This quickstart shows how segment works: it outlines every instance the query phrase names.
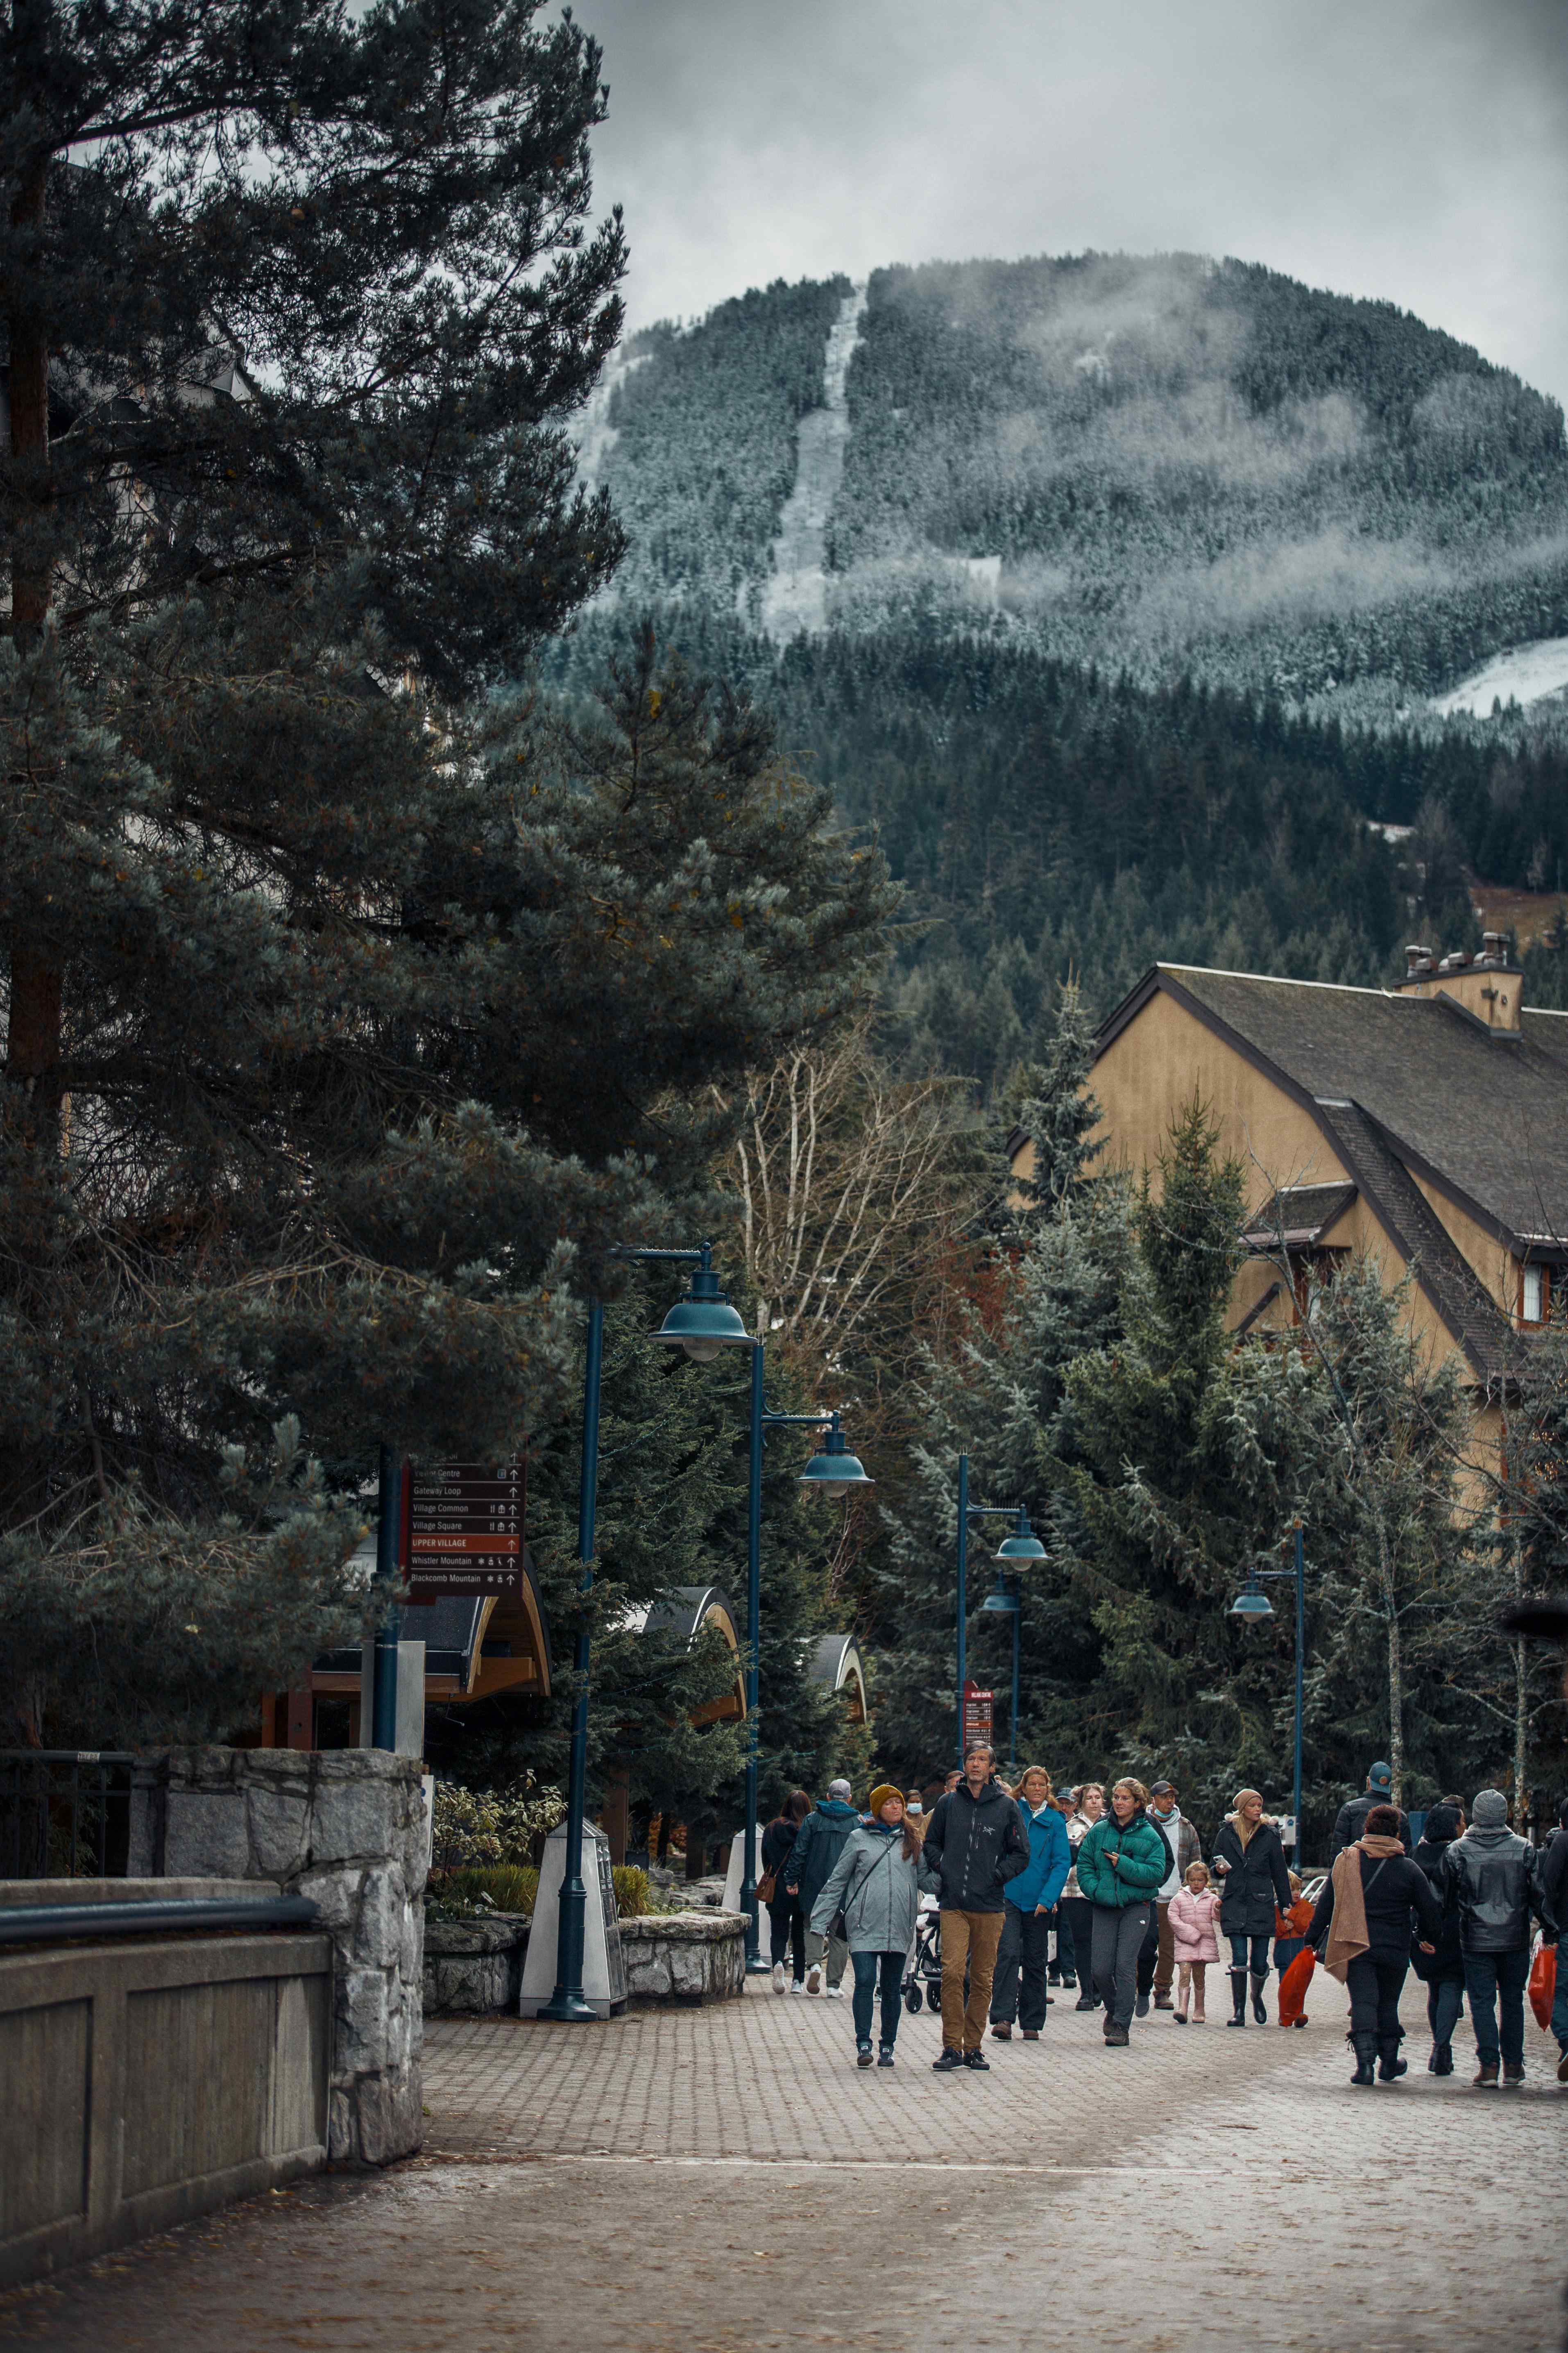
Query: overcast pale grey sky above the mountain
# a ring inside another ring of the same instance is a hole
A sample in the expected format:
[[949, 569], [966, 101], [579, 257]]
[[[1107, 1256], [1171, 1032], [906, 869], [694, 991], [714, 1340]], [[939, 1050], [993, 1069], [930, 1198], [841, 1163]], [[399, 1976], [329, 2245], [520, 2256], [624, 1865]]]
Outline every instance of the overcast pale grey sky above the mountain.
[[1568, 0], [576, 0], [632, 325], [1100, 249], [1375, 294], [1568, 398]]

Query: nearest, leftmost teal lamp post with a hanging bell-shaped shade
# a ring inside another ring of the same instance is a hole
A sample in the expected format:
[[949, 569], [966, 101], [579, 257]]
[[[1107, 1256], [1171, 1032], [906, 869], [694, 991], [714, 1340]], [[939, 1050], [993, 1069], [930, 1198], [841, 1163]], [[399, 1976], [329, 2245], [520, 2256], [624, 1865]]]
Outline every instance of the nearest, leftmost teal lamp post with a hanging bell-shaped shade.
[[[750, 1332], [719, 1289], [712, 1271], [712, 1245], [696, 1249], [614, 1249], [614, 1259], [637, 1264], [684, 1264], [691, 1266], [691, 1285], [654, 1339], [684, 1348], [698, 1365], [712, 1362], [724, 1346], [748, 1346]], [[592, 1593], [592, 1546], [595, 1511], [599, 1499], [599, 1384], [604, 1374], [604, 1301], [588, 1301], [588, 1351], [583, 1360], [583, 1473], [578, 1482], [578, 1560], [583, 1574], [578, 1593], [583, 1602]], [[555, 1934], [555, 1993], [541, 2007], [541, 2019], [578, 2024], [592, 2019], [595, 2009], [583, 2000], [583, 1915], [588, 1889], [583, 1887], [583, 1805], [588, 1802], [588, 1661], [590, 1633], [588, 1609], [576, 1635], [576, 1708], [571, 1715], [571, 1765], [567, 1772], [567, 1857], [562, 1866], [562, 1894]]]

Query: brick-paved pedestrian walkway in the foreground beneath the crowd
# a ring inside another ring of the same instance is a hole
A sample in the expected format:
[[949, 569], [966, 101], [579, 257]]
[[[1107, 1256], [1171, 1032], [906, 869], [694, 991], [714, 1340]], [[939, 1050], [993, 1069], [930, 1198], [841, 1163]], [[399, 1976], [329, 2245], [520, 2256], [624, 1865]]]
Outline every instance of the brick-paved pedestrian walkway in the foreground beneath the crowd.
[[849, 2002], [752, 1991], [604, 2028], [428, 2033], [428, 2146], [0, 2297], [45, 2353], [1542, 2353], [1561, 2341], [1568, 2089], [1352, 2092], [1342, 1995], [1307, 2033], [1128, 2052], [1051, 2009], [985, 2078], [938, 2033], [858, 2073]]

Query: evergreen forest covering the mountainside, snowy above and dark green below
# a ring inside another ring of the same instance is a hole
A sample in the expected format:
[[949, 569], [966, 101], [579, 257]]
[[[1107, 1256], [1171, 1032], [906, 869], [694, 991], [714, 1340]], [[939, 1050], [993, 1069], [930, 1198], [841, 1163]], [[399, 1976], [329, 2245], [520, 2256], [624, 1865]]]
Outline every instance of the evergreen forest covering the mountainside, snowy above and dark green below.
[[[632, 612], [750, 687], [905, 885], [886, 1040], [994, 1087], [1056, 981], [1157, 958], [1378, 986], [1474, 946], [1469, 878], [1568, 889], [1568, 727], [1427, 696], [1568, 635], [1556, 402], [1389, 304], [1192, 256], [877, 271], [827, 628], [759, 628], [846, 278], [635, 336], [595, 485]], [[978, 579], [976, 558], [999, 558]], [[1408, 831], [1406, 831], [1408, 828]], [[1563, 925], [1528, 993], [1568, 1002]]]

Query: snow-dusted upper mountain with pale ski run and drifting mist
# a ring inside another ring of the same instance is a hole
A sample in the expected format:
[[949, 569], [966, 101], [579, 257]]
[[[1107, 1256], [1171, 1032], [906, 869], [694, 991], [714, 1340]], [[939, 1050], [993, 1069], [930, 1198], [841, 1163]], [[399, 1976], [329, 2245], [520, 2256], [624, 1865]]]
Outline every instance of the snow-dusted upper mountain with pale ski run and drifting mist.
[[611, 598], [776, 642], [917, 621], [1394, 711], [1568, 635], [1556, 402], [1239, 261], [778, 282], [632, 339], [583, 468], [632, 541]]

